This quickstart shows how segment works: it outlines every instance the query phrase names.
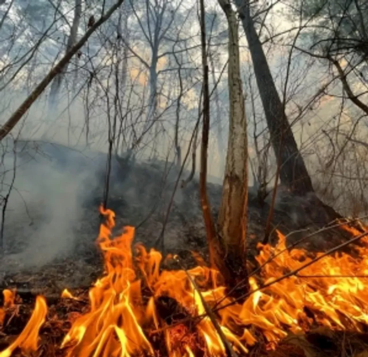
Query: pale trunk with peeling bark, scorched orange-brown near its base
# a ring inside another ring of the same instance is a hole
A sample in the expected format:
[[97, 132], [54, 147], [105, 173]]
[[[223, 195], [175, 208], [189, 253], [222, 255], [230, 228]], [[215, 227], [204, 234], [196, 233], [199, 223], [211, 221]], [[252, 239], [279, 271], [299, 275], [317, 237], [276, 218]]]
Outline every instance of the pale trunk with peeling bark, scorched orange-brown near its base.
[[226, 265], [233, 272], [230, 283], [234, 286], [244, 279], [246, 262], [246, 227], [248, 201], [248, 140], [244, 96], [240, 79], [240, 59], [237, 17], [229, 0], [218, 0], [229, 25], [229, 100], [230, 125], [219, 229], [226, 247]]

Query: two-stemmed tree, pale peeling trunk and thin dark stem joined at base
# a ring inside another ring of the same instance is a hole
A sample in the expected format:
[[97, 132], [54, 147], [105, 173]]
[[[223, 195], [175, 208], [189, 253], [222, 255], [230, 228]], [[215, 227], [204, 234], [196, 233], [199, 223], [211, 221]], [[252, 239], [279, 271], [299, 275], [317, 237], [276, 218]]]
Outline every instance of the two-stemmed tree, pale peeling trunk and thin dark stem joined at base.
[[203, 80], [203, 128], [201, 145], [201, 171], [199, 190], [204, 216], [210, 263], [222, 273], [227, 286], [235, 287], [244, 280], [246, 272], [246, 227], [247, 227], [247, 120], [244, 96], [240, 79], [238, 25], [236, 14], [229, 0], [219, 0], [228, 22], [229, 64], [228, 85], [230, 97], [230, 126], [224, 174], [222, 203], [219, 213], [219, 234], [215, 229], [206, 191], [207, 149], [209, 133], [208, 63], [205, 40], [205, 16], [203, 0], [201, 6], [201, 44]]

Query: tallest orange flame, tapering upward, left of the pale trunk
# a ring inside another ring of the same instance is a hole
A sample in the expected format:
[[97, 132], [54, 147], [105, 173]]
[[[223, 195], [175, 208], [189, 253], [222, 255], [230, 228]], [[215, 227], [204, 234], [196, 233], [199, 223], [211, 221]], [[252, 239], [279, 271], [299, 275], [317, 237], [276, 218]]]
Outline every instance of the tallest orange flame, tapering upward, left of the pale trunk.
[[71, 346], [67, 356], [128, 357], [141, 350], [153, 354], [141, 324], [141, 285], [133, 269], [131, 242], [134, 228], [110, 240], [114, 212], [103, 210], [98, 243], [105, 258], [105, 275], [89, 291], [91, 311], [79, 317], [65, 336], [62, 347]]

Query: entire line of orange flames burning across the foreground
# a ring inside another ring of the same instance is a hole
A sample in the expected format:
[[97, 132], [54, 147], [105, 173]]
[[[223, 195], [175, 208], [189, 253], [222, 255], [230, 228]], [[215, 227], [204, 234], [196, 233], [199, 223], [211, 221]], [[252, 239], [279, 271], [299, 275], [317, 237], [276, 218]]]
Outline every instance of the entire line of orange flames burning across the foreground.
[[[368, 325], [365, 237], [356, 247], [360, 258], [345, 253], [326, 255], [280, 279], [312, 258], [301, 249], [288, 251], [286, 238], [278, 233], [276, 248], [259, 245], [259, 276], [249, 278], [254, 292], [238, 302], [227, 296], [226, 287], [218, 285], [219, 273], [206, 266], [187, 271], [160, 270], [160, 252], [147, 252], [142, 245], [135, 246], [137, 254], [133, 255], [134, 228], [125, 227], [123, 234], [112, 238], [114, 212], [100, 212], [106, 218], [98, 237], [105, 273], [89, 290], [89, 311], [74, 319], [59, 346], [63, 356], [162, 356], [158, 340], [163, 343], [163, 339], [170, 357], [225, 356], [224, 343], [205, 313], [201, 297], [215, 311], [223, 335], [240, 355], [246, 354], [260, 336], [272, 349], [288, 333], [301, 334], [312, 326], [361, 332]], [[360, 234], [347, 226], [344, 229]], [[259, 289], [261, 284], [267, 287]], [[14, 308], [15, 299], [15, 291], [4, 290], [3, 294], [0, 327], [5, 311]], [[68, 290], [63, 291], [62, 298], [80, 300]], [[163, 301], [174, 302], [177, 318], [172, 308], [167, 308], [171, 316], [164, 316]], [[38, 296], [28, 324], [0, 357], [9, 357], [16, 349], [37, 350], [46, 315], [46, 300]]]

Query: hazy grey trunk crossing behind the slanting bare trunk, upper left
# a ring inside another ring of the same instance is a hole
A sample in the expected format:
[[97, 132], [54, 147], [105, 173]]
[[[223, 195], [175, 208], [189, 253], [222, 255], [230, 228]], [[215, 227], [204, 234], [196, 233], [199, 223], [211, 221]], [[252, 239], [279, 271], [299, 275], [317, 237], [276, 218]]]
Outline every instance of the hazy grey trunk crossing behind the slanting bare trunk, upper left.
[[[75, 0], [74, 18], [70, 28], [70, 35], [67, 42], [66, 53], [68, 53], [70, 49], [74, 46], [74, 43], [77, 42], [77, 33], [79, 28], [79, 22], [81, 20], [81, 14], [82, 14], [82, 0]], [[63, 68], [63, 70], [56, 75], [51, 84], [50, 98], [49, 98], [50, 105], [54, 105], [56, 103], [56, 99], [61, 87], [61, 82], [63, 81], [64, 74], [68, 69], [68, 64], [69, 63], [67, 63]]]

